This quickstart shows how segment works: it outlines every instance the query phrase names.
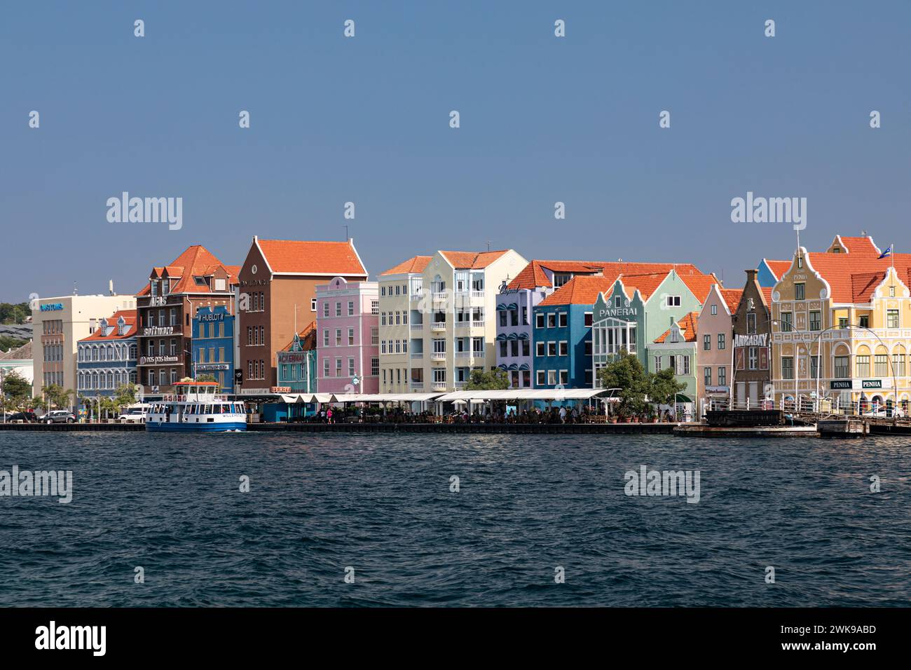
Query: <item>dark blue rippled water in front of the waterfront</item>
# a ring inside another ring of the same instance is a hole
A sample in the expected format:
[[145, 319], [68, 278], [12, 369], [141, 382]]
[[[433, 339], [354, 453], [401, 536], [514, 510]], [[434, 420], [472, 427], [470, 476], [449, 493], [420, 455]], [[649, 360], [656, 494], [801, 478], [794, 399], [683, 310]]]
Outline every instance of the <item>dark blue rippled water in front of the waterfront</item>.
[[[3, 432], [0, 469], [71, 469], [74, 499], [0, 498], [0, 605], [908, 605], [909, 455], [906, 438]], [[699, 469], [700, 502], [625, 495], [643, 464]]]

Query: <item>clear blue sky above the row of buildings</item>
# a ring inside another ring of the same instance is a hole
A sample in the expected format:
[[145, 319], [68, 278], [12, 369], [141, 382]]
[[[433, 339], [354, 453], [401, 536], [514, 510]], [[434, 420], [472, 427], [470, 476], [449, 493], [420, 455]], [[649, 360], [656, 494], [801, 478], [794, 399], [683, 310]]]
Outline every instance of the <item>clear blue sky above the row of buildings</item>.
[[[909, 30], [906, 0], [7, 3], [0, 300], [134, 292], [189, 244], [239, 264], [253, 234], [346, 223], [374, 276], [489, 241], [737, 287], [795, 241], [732, 223], [747, 191], [807, 198], [811, 248], [911, 251]], [[181, 197], [182, 229], [107, 222], [121, 191]]]

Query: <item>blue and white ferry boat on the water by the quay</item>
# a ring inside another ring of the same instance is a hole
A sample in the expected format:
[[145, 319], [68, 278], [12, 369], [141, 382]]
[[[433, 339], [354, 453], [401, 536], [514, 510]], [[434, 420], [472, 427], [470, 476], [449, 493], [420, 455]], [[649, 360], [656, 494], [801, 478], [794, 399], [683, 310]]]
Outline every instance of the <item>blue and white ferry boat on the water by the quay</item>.
[[183, 433], [246, 430], [243, 403], [216, 393], [218, 386], [216, 382], [176, 383], [173, 395], [152, 403], [146, 430]]

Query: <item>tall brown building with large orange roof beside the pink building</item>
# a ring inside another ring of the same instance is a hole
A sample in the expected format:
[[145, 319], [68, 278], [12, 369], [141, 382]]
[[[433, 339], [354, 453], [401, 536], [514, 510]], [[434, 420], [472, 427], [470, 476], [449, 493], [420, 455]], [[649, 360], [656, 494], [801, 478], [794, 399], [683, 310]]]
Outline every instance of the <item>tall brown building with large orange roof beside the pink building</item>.
[[277, 386], [275, 353], [316, 320], [316, 286], [333, 277], [367, 280], [348, 242], [260, 240], [255, 235], [240, 273], [237, 329], [244, 395]]

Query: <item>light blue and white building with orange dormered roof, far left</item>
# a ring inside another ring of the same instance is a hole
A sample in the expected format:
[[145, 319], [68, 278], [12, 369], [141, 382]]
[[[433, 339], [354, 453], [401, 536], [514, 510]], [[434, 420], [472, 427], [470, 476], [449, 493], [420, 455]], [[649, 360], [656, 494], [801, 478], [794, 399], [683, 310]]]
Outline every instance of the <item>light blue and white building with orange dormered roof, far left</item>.
[[79, 340], [77, 396], [115, 396], [118, 387], [136, 384], [137, 355], [136, 310], [102, 318], [92, 335]]

